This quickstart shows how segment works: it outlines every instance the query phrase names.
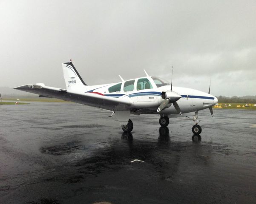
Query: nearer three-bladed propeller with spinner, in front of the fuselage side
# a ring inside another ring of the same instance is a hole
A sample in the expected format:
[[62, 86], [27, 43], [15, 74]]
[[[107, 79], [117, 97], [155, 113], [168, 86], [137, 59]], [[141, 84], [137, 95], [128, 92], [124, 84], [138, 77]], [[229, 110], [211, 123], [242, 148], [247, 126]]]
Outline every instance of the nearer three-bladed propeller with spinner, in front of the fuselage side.
[[179, 95], [178, 93], [176, 93], [175, 91], [173, 91], [173, 69], [172, 69], [172, 81], [171, 81], [171, 90], [170, 91], [166, 91], [166, 92], [162, 92], [162, 99], [164, 99], [163, 102], [161, 102], [160, 106], [157, 109], [157, 112], [159, 113], [160, 111], [164, 110], [164, 108], [167, 108], [168, 104], [171, 103], [173, 104], [174, 108], [176, 109], [176, 111], [181, 115], [181, 109], [178, 106], [178, 103], [176, 101], [178, 101], [178, 99], [181, 98], [181, 95]]

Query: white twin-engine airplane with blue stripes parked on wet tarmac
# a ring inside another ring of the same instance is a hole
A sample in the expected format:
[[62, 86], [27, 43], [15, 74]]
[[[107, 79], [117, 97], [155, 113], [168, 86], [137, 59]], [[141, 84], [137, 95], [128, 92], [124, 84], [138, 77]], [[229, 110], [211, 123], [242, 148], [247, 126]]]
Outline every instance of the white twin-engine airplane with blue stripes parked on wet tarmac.
[[42, 83], [15, 89], [112, 111], [124, 132], [133, 129], [130, 114], [159, 114], [162, 127], [167, 127], [170, 117], [193, 116], [196, 125], [192, 131], [199, 135], [198, 111], [209, 108], [213, 116], [212, 106], [218, 102], [215, 96], [210, 95], [210, 88], [207, 94], [191, 88], [174, 87], [164, 79], [150, 77], [145, 70], [146, 77], [125, 81], [119, 76], [122, 82], [89, 86], [83, 82], [71, 60], [63, 63], [62, 68], [66, 89]]

